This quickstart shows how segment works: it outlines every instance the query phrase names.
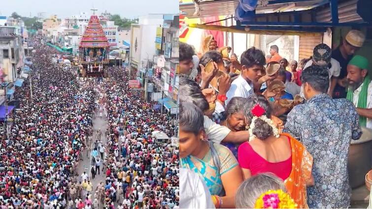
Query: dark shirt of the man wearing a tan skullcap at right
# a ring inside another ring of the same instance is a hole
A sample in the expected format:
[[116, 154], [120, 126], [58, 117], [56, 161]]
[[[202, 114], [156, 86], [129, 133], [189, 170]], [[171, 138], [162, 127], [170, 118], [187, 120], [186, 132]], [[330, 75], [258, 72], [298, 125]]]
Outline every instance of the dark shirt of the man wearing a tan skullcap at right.
[[[339, 50], [339, 47], [338, 47], [332, 52], [332, 58], [335, 60], [338, 60], [340, 68], [341, 68], [338, 79], [345, 78], [347, 76], [347, 70], [346, 70], [347, 64], [351, 60], [352, 56], [349, 56], [347, 59], [343, 58], [341, 51]], [[346, 98], [345, 88], [336, 84], [335, 90], [333, 91], [333, 98], [334, 99]]]

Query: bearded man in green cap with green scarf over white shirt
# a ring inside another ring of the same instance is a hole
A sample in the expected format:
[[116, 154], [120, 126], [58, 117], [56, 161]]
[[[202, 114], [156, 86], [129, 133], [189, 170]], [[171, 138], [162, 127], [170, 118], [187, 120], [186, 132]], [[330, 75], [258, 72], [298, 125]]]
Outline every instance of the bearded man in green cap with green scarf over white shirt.
[[369, 62], [360, 55], [347, 64], [349, 90], [346, 98], [354, 103], [362, 127], [372, 128], [372, 83], [368, 75]]

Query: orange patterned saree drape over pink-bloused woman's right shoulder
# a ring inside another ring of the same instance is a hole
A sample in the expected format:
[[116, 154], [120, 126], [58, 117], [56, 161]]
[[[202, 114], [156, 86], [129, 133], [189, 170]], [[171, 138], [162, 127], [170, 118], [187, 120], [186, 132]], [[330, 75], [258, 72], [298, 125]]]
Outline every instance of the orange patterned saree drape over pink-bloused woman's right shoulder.
[[312, 169], [312, 155], [306, 150], [301, 142], [297, 141], [290, 134], [282, 133], [290, 138], [292, 148], [292, 171], [284, 180], [288, 194], [297, 203], [298, 208], [307, 209], [306, 202], [306, 181], [310, 179]]

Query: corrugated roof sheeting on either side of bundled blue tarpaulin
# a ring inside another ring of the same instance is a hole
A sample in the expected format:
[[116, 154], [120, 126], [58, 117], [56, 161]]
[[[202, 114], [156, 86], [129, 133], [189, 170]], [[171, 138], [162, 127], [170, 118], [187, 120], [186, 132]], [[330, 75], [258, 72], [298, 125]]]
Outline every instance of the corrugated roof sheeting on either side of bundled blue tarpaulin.
[[[272, 0], [269, 0], [269, 3]], [[194, 16], [195, 6], [194, 3], [180, 3], [179, 9], [182, 14], [188, 18], [201, 18], [201, 17], [214, 17], [221, 15], [234, 15], [239, 0], [211, 0], [202, 1], [200, 3], [201, 15]], [[275, 3], [266, 6], [258, 5], [256, 14], [274, 13], [274, 12], [289, 12], [289, 11], [302, 11], [312, 9], [323, 4], [325, 0], [306, 0], [296, 1], [290, 3]]]

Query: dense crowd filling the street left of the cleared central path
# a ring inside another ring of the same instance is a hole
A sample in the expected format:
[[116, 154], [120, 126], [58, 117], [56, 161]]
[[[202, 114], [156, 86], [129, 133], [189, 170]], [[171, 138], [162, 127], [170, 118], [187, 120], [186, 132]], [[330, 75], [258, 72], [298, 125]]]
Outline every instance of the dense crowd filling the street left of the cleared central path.
[[[9, 138], [1, 140], [1, 208], [66, 208], [68, 183], [92, 125], [93, 89], [52, 64], [53, 49], [34, 47], [34, 70], [14, 93], [20, 109], [10, 115]], [[32, 92], [30, 79], [37, 79]]]

